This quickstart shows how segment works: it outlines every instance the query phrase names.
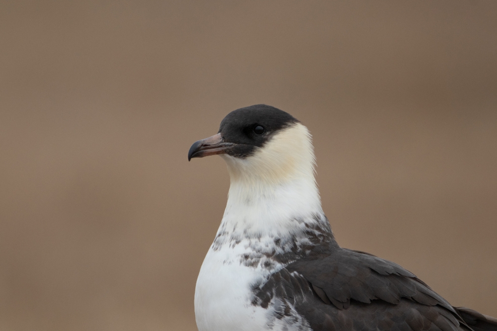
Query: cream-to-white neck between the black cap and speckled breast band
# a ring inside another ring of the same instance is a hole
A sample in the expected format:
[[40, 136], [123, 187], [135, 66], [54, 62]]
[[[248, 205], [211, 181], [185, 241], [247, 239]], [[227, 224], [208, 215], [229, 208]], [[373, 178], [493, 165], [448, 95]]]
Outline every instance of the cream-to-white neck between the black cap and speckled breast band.
[[311, 135], [304, 125], [281, 130], [246, 159], [223, 158], [231, 185], [220, 231], [285, 236], [323, 213]]

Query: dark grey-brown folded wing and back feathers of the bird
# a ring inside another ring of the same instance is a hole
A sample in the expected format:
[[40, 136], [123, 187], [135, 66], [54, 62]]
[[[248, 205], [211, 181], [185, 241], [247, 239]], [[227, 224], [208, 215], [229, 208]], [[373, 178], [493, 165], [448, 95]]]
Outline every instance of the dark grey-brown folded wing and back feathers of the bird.
[[398, 264], [340, 248], [322, 230], [325, 240], [254, 289], [253, 305], [290, 304], [314, 331], [497, 331], [496, 319], [452, 307]]

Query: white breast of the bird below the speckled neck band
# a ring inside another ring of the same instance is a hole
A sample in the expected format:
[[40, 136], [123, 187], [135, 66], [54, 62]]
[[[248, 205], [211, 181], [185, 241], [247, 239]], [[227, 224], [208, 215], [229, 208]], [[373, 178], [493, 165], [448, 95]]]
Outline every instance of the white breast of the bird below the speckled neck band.
[[[243, 239], [236, 245], [209, 249], [195, 287], [195, 320], [199, 331], [310, 331], [309, 324], [291, 307], [291, 316], [277, 318], [278, 298], [267, 308], [253, 305], [254, 284], [264, 283], [283, 265], [258, 258], [253, 248], [266, 247], [271, 238]], [[270, 248], [271, 249], [271, 248]], [[251, 256], [252, 258], [247, 258]]]

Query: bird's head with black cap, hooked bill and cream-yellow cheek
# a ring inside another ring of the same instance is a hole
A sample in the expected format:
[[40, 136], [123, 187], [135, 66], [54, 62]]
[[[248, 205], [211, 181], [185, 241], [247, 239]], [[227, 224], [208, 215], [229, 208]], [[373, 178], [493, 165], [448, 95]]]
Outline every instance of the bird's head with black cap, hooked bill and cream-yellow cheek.
[[232, 185], [277, 186], [294, 179], [314, 184], [314, 151], [307, 128], [292, 115], [258, 104], [229, 113], [219, 132], [195, 142], [188, 160], [221, 155]]

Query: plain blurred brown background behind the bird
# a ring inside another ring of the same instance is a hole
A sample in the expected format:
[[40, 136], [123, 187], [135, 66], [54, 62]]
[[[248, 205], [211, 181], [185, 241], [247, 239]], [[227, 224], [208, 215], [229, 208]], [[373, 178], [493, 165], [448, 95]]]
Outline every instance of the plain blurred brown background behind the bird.
[[229, 111], [314, 135], [338, 242], [497, 316], [497, 1], [0, 0], [0, 330], [196, 330]]

